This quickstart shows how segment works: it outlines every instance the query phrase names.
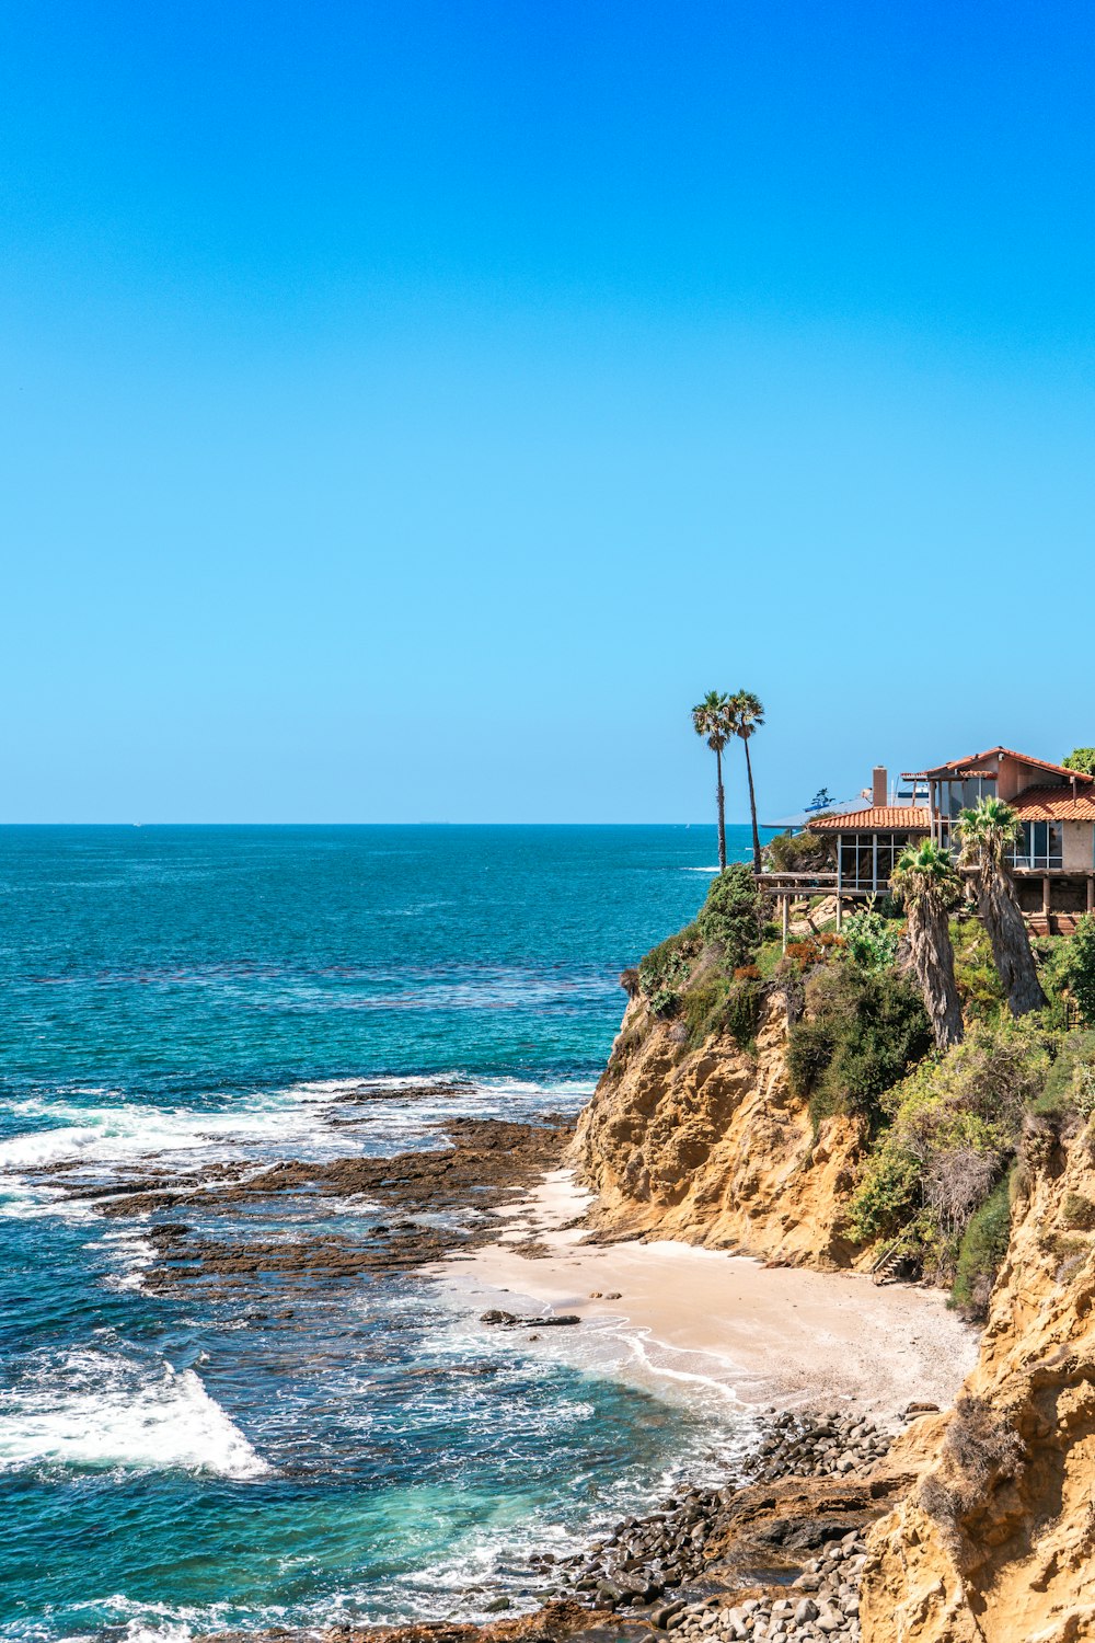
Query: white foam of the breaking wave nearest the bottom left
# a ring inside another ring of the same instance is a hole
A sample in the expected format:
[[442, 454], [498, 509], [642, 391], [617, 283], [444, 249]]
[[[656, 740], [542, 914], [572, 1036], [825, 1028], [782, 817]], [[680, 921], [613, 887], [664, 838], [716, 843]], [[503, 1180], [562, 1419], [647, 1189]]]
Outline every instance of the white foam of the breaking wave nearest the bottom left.
[[0, 1392], [0, 1470], [28, 1467], [186, 1469], [251, 1479], [269, 1466], [192, 1369], [159, 1377], [103, 1352]]

